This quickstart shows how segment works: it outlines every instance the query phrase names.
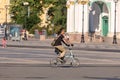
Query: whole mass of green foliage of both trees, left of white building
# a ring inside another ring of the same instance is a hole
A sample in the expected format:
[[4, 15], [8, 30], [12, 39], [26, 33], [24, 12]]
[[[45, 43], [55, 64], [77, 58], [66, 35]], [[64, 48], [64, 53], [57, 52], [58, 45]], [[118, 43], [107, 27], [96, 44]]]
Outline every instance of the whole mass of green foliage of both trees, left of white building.
[[[24, 6], [24, 2], [29, 3], [29, 17], [27, 17], [26, 9], [28, 6]], [[34, 29], [32, 27], [41, 22], [39, 16], [44, 12], [43, 7], [45, 8], [50, 5], [52, 6], [48, 10], [48, 20], [54, 25], [54, 29], [60, 26], [65, 27], [67, 16], [66, 0], [11, 0], [10, 13], [12, 14], [12, 21], [25, 27], [26, 18], [27, 29]]]

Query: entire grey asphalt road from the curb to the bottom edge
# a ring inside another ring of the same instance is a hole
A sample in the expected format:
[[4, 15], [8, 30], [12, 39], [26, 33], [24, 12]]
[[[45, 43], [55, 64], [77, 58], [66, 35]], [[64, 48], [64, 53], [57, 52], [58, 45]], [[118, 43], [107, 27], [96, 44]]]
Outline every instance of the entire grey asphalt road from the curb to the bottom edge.
[[79, 67], [50, 67], [52, 49], [0, 48], [0, 80], [120, 80], [120, 52], [74, 50]]

